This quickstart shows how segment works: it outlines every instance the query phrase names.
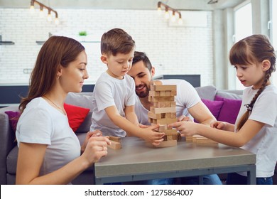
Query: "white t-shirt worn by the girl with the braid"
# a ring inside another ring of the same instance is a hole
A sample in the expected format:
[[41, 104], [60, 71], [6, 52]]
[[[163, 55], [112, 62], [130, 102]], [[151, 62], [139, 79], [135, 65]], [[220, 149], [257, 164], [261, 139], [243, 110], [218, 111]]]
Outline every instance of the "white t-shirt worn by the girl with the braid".
[[[244, 90], [235, 129], [241, 116], [246, 112], [244, 104], [249, 104], [258, 90], [248, 87]], [[274, 174], [277, 161], [277, 89], [273, 85], [265, 87], [256, 100], [249, 119], [264, 123], [264, 127], [242, 149], [256, 154], [256, 177], [267, 178]], [[246, 173], [241, 173], [246, 176]]]

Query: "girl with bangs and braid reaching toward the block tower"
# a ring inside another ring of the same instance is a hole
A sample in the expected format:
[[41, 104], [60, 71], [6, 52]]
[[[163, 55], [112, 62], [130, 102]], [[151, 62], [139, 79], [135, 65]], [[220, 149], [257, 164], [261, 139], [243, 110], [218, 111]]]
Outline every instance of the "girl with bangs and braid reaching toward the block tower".
[[[229, 60], [237, 70], [243, 93], [236, 123], [213, 122], [211, 127], [176, 122], [183, 136], [200, 134], [256, 154], [256, 183], [273, 184], [277, 159], [277, 88], [269, 78], [276, 70], [276, 55], [266, 36], [253, 35], [234, 44]], [[246, 173], [229, 173], [227, 184], [246, 184]]]

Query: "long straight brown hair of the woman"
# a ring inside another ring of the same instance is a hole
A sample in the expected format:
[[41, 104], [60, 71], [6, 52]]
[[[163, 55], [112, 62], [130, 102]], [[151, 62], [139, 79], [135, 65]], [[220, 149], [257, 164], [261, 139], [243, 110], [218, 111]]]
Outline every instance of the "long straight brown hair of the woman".
[[83, 50], [85, 50], [84, 46], [72, 38], [64, 36], [48, 38], [38, 53], [36, 65], [30, 77], [28, 95], [22, 97], [19, 104], [21, 112], [28, 102], [45, 95], [53, 87], [60, 65], [66, 68]]

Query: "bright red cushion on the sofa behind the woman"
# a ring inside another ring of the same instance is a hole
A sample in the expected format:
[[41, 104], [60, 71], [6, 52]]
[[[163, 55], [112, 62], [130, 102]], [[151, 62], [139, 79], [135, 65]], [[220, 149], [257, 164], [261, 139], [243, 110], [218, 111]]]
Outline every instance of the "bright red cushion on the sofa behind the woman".
[[65, 112], [67, 114], [68, 122], [73, 131], [77, 131], [82, 122], [84, 122], [89, 109], [84, 107], [77, 107], [72, 104], [64, 104]]

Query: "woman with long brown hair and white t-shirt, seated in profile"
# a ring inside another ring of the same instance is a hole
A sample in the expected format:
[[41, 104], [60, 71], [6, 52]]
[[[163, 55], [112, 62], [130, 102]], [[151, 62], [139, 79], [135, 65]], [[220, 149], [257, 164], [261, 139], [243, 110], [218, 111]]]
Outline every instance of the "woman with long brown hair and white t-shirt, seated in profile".
[[107, 137], [88, 132], [80, 146], [63, 107], [68, 92], [81, 92], [87, 54], [72, 38], [51, 36], [36, 60], [16, 129], [16, 184], [68, 184], [107, 155]]

